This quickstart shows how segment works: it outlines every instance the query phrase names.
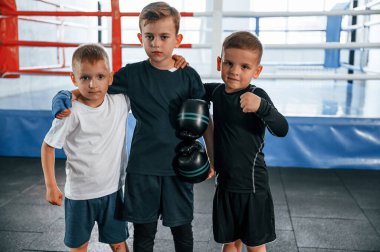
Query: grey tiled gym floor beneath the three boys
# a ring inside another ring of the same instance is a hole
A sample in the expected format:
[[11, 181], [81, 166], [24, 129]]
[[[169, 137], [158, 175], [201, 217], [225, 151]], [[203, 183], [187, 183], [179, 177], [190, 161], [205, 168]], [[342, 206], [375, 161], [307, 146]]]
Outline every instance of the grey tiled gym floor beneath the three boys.
[[[63, 160], [57, 161], [63, 188]], [[380, 251], [380, 170], [269, 168], [276, 241], [268, 251]], [[0, 251], [67, 251], [63, 208], [50, 206], [39, 159], [0, 157]], [[213, 183], [195, 187], [194, 251], [220, 251], [213, 241]], [[133, 229], [128, 244], [132, 248]], [[93, 232], [90, 251], [109, 251]], [[174, 251], [159, 226], [155, 251]]]

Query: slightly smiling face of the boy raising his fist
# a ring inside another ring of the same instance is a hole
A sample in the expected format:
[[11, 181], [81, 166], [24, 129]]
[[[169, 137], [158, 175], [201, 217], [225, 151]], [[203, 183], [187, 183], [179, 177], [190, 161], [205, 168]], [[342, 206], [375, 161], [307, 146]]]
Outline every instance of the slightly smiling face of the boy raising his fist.
[[252, 78], [259, 77], [262, 66], [258, 62], [258, 53], [255, 51], [238, 48], [223, 50], [222, 58], [217, 59], [217, 68], [226, 84], [226, 92], [242, 90]]

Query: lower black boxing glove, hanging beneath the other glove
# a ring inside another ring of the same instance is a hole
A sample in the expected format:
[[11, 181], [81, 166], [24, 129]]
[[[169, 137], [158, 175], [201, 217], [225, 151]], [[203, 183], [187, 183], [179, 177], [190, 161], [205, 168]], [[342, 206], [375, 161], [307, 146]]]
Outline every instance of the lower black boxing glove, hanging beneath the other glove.
[[176, 147], [173, 167], [177, 176], [188, 183], [199, 183], [208, 177], [210, 162], [203, 145], [195, 141], [182, 141]]

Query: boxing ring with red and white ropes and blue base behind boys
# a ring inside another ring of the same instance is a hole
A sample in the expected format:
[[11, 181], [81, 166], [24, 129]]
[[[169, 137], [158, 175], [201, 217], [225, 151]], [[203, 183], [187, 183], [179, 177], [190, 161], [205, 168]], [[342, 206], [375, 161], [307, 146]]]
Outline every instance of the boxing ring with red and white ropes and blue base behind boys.
[[[102, 43], [114, 70], [146, 57], [135, 36], [138, 9], [121, 11], [118, 0], [88, 6], [30, 2], [36, 4], [0, 3], [0, 156], [40, 156], [53, 119], [51, 98], [60, 89], [73, 88], [68, 62], [80, 43]], [[185, 56], [204, 82], [220, 82], [212, 59], [220, 54], [222, 38], [236, 29], [262, 38], [264, 71], [255, 84], [269, 93], [290, 126], [285, 138], [267, 133], [268, 165], [379, 170], [380, 1], [351, 1], [323, 11], [273, 12], [224, 11], [222, 2], [215, 0], [202, 12], [181, 12], [184, 26], [190, 27], [184, 37], [190, 39], [175, 53]], [[265, 26], [268, 20], [290, 22], [299, 17], [311, 17], [314, 25], [324, 21], [308, 29]], [[230, 23], [236, 25], [229, 27]], [[205, 30], [199, 36], [195, 24]], [[283, 43], [266, 43], [280, 32], [306, 35], [299, 41], [286, 35]], [[199, 39], [193, 43], [195, 37]], [[25, 83], [30, 92], [24, 90]], [[129, 118], [130, 145], [135, 121]], [[57, 156], [64, 154], [58, 151]]]

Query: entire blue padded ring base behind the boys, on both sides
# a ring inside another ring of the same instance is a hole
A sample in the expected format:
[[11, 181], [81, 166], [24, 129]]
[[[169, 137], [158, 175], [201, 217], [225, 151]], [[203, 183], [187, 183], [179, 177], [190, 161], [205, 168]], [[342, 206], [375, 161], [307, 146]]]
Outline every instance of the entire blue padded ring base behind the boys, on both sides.
[[[39, 157], [50, 111], [0, 110], [0, 156]], [[380, 170], [380, 118], [287, 117], [285, 138], [266, 134], [269, 166]], [[130, 146], [135, 119], [128, 119]], [[64, 157], [62, 151], [57, 157]]]

